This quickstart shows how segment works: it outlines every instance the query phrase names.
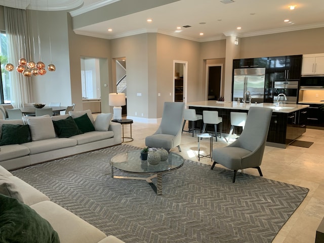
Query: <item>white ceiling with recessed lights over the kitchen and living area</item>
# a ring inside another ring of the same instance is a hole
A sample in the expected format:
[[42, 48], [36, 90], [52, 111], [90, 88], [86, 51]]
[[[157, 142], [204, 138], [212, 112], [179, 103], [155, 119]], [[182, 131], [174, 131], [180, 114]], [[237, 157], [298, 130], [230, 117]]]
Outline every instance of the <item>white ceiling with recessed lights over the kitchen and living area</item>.
[[[19, 3], [24, 0], [15, 0]], [[0, 0], [0, 5], [13, 0]], [[102, 6], [114, 8], [120, 0], [26, 0], [36, 2], [47, 10], [73, 9], [72, 17]], [[124, 2], [135, 0], [121, 0]], [[163, 0], [159, 0], [162, 1]], [[77, 34], [113, 39], [144, 32], [158, 32], [197, 42], [224, 39], [226, 36], [255, 36], [300, 29], [324, 27], [323, 0], [233, 0], [224, 4], [220, 0], [179, 0], [152, 9], [75, 28]], [[7, 3], [7, 4], [8, 4]], [[45, 4], [46, 3], [46, 4]], [[139, 1], [145, 4], [145, 1]], [[47, 6], [47, 4], [49, 6]], [[295, 10], [289, 6], [294, 5]], [[28, 8], [31, 5], [29, 5]], [[11, 6], [13, 7], [13, 6]], [[127, 6], [125, 6], [127, 8]], [[117, 11], [117, 10], [116, 10]], [[147, 19], [152, 19], [147, 23]], [[104, 19], [104, 18], [103, 18]], [[284, 22], [289, 19], [289, 22]], [[204, 23], [204, 24], [203, 24]], [[190, 25], [184, 28], [182, 26]], [[236, 28], [240, 26], [241, 29]], [[175, 32], [181, 27], [181, 32]], [[108, 28], [112, 31], [108, 32]], [[199, 35], [204, 33], [204, 35]]]

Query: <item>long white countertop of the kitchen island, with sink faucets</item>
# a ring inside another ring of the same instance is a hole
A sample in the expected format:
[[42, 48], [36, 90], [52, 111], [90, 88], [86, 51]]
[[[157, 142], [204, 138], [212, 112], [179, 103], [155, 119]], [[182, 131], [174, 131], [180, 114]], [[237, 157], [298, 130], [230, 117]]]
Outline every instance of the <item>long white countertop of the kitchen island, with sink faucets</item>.
[[278, 107], [272, 103], [259, 103], [255, 104], [237, 104], [237, 102], [228, 102], [228, 101], [215, 101], [215, 100], [207, 100], [207, 101], [197, 101], [187, 103], [187, 106], [195, 106], [195, 107], [208, 107], [208, 108], [220, 108], [220, 109], [238, 109], [238, 110], [249, 110], [250, 107], [266, 107], [271, 108], [274, 112], [280, 113], [290, 113], [296, 110], [300, 110], [303, 108], [309, 107], [309, 105], [295, 105], [295, 104], [280, 104]]

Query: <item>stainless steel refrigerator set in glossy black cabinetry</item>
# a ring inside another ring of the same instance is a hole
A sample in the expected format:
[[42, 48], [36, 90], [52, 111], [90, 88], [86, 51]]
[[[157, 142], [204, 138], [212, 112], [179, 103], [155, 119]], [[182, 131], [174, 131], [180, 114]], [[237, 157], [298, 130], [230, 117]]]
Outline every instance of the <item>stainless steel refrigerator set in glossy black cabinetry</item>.
[[[264, 100], [265, 67], [234, 69], [232, 101], [244, 99], [249, 91], [252, 103], [263, 103]], [[249, 94], [248, 94], [249, 97]], [[250, 100], [247, 97], [247, 102]]]

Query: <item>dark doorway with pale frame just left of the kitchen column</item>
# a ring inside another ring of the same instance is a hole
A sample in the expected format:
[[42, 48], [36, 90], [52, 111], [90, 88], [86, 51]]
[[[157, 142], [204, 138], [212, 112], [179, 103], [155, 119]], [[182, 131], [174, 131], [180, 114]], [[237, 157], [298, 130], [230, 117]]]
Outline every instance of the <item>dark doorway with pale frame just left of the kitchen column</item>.
[[206, 70], [206, 98], [207, 100], [219, 100], [223, 97], [222, 87], [222, 70], [223, 65], [207, 65]]

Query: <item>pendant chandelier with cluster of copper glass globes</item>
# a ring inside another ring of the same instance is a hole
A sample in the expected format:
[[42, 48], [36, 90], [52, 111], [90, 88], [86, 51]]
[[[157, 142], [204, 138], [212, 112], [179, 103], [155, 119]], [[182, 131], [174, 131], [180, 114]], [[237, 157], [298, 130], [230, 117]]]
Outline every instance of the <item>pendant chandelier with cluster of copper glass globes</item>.
[[[35, 0], [37, 1], [37, 0]], [[47, 2], [48, 4], [48, 2]], [[26, 9], [26, 13], [27, 9]], [[29, 35], [29, 25], [28, 25], [28, 16], [27, 16], [27, 28], [28, 28], [28, 38], [30, 37]], [[38, 53], [39, 53], [39, 61], [34, 62], [31, 60], [31, 54], [30, 54], [30, 59], [29, 61], [26, 60], [25, 57], [22, 57], [18, 60], [18, 65], [16, 66], [16, 71], [21, 73], [25, 77], [31, 77], [33, 76], [38, 76], [38, 75], [45, 75], [46, 74], [46, 69], [45, 69], [45, 63], [41, 61], [41, 37], [39, 36], [39, 27], [38, 27], [38, 12], [37, 12], [37, 37], [38, 37]], [[20, 38], [22, 38], [20, 36]], [[23, 37], [25, 39], [25, 36]], [[33, 38], [33, 51], [35, 52], [35, 41], [34, 41], [34, 35], [32, 33], [32, 38]], [[51, 34], [49, 31], [49, 41], [50, 41], [50, 56], [51, 56], [51, 64], [47, 66], [47, 69], [51, 72], [56, 70], [56, 67], [54, 64], [52, 64], [52, 48], [51, 48]], [[23, 43], [23, 42], [21, 42]], [[29, 53], [31, 53], [31, 48], [30, 48], [30, 40], [28, 41], [29, 44]], [[23, 44], [21, 44], [23, 45]], [[23, 50], [23, 48], [21, 48]], [[20, 53], [21, 55], [21, 53]], [[9, 72], [13, 71], [15, 69], [15, 66], [12, 63], [8, 63], [5, 66], [5, 69]]]

